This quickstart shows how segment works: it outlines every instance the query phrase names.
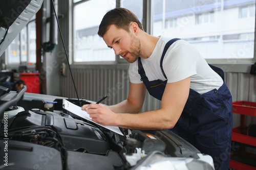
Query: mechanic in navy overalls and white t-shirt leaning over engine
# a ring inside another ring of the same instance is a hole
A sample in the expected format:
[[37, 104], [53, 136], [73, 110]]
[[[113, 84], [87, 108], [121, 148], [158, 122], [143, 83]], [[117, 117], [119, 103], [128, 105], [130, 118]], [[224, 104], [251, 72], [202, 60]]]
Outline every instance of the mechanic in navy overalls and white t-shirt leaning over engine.
[[[216, 169], [228, 169], [232, 98], [223, 71], [208, 65], [182, 39], [147, 34], [135, 14], [124, 8], [104, 15], [98, 35], [130, 63], [131, 84], [121, 103], [82, 106], [92, 120], [127, 129], [171, 130], [210, 155]], [[161, 108], [139, 113], [146, 89], [161, 100]]]

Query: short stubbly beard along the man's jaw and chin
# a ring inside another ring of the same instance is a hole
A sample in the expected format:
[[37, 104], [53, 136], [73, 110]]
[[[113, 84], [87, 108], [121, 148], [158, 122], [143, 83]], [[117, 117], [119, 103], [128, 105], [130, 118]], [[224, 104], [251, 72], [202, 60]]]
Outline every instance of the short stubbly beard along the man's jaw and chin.
[[129, 63], [133, 63], [135, 62], [139, 56], [140, 56], [140, 51], [141, 51], [141, 43], [140, 40], [138, 38], [136, 38], [133, 34], [131, 34], [131, 57], [126, 58], [126, 60]]

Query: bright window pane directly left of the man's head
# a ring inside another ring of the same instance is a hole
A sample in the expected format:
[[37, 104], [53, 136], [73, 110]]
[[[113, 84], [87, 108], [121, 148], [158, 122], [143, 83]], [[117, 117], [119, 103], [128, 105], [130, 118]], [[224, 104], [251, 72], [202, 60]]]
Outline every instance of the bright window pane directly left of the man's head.
[[74, 62], [116, 60], [114, 51], [98, 36], [101, 19], [115, 7], [116, 0], [80, 1], [74, 4]]

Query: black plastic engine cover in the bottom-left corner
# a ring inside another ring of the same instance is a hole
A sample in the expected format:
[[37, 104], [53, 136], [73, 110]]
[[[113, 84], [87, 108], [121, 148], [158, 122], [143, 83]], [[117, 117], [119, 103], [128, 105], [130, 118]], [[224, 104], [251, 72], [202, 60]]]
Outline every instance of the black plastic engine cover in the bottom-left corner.
[[59, 151], [23, 141], [0, 140], [0, 157], [1, 169], [62, 169]]

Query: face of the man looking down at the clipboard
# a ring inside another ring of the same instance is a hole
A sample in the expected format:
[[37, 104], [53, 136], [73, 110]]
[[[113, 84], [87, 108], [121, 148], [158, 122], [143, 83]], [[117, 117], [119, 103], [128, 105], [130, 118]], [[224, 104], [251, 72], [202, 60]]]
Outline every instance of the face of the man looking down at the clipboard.
[[127, 32], [111, 25], [103, 35], [103, 40], [108, 47], [113, 48], [116, 55], [120, 55], [129, 63], [135, 62], [140, 56], [140, 40], [132, 31]]

